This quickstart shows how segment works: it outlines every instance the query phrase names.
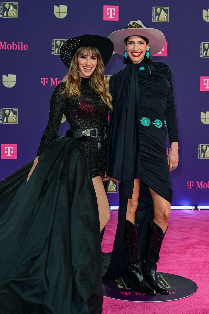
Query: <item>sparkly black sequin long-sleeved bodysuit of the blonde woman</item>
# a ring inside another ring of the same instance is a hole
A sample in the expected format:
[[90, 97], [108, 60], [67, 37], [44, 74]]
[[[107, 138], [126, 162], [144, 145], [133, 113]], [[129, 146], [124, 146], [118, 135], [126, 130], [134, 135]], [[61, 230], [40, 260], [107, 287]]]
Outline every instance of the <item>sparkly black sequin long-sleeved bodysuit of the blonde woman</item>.
[[[90, 87], [89, 79], [82, 78], [81, 98], [68, 98], [62, 93], [65, 83], [56, 86], [51, 101], [49, 121], [41, 138], [37, 156], [39, 156], [54, 140], [60, 127], [63, 114], [71, 126], [71, 130], [86, 130], [98, 128], [108, 134], [108, 107], [101, 97]], [[104, 137], [104, 134], [99, 134]], [[106, 167], [106, 145], [107, 141], [101, 142], [98, 149], [98, 142], [82, 142], [87, 158], [88, 168], [91, 177], [104, 176]]]

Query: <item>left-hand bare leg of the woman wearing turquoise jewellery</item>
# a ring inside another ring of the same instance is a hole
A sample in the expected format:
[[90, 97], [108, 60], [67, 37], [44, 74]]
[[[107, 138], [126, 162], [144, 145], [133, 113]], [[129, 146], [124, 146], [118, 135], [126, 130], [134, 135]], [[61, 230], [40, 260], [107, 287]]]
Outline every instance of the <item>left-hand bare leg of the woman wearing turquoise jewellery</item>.
[[135, 223], [135, 213], [138, 206], [138, 198], [139, 198], [139, 189], [140, 189], [140, 180], [134, 179], [134, 189], [132, 198], [128, 198], [127, 211], [126, 211], [126, 220]]

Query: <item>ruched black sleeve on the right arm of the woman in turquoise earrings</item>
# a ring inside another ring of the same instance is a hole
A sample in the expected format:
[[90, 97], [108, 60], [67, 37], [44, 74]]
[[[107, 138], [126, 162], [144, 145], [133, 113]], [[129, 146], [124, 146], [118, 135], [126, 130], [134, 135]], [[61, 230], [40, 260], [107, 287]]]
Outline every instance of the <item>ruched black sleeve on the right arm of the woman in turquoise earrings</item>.
[[169, 141], [170, 144], [172, 142], [179, 142], [179, 135], [178, 135], [178, 126], [176, 120], [176, 110], [174, 104], [174, 92], [173, 92], [173, 84], [172, 84], [172, 74], [170, 68], [166, 72], [166, 77], [170, 84], [169, 94], [167, 95], [167, 108], [165, 111], [166, 116], [166, 124], [169, 133]]

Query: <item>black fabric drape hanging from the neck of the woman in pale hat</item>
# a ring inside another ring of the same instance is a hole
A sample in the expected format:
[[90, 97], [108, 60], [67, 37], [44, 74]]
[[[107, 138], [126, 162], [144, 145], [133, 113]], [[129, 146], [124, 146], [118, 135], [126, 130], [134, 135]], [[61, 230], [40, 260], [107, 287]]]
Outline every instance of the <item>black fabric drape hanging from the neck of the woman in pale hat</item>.
[[125, 185], [131, 198], [133, 180], [141, 175], [139, 152], [139, 87], [134, 63], [118, 73], [111, 115], [107, 174]]

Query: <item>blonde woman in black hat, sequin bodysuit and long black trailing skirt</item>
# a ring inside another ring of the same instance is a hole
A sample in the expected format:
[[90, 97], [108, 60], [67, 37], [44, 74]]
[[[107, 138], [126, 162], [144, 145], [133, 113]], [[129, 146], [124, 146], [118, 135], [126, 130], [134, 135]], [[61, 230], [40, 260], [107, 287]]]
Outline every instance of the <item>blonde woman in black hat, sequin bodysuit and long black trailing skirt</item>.
[[[102, 311], [99, 231], [110, 215], [102, 178], [111, 109], [103, 71], [112, 52], [112, 42], [97, 35], [65, 42], [60, 56], [69, 70], [52, 94], [34, 164], [0, 182], [1, 313]], [[67, 137], [56, 136], [63, 114]]]

